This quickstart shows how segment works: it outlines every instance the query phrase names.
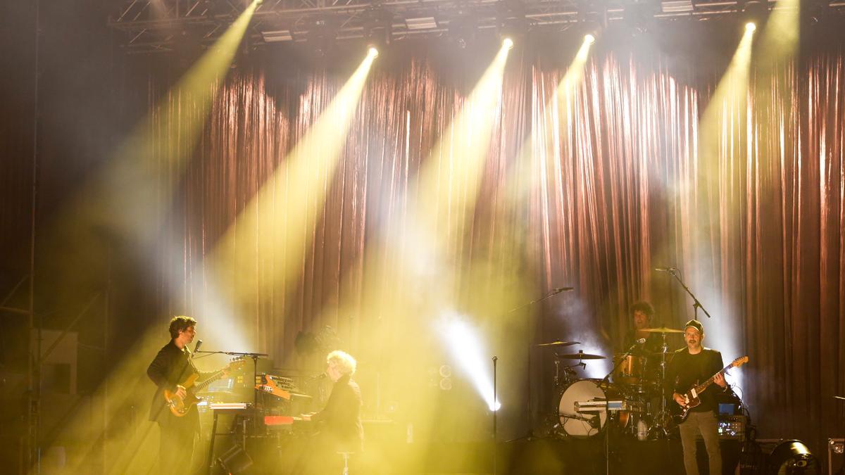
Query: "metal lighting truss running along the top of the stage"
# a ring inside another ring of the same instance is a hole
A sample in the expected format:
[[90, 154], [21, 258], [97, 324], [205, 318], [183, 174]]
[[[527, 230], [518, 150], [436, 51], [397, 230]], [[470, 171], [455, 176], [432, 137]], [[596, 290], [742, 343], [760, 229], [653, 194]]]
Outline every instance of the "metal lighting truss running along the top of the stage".
[[[818, 2], [804, 17], [845, 14], [845, 0]], [[804, 2], [802, 2], [804, 3]], [[248, 0], [123, 0], [108, 20], [130, 53], [170, 52], [190, 41], [207, 46], [243, 12]], [[626, 21], [646, 28], [672, 19], [757, 14], [774, 2], [746, 0], [264, 0], [244, 47], [278, 43], [473, 35], [481, 30], [527, 32], [601, 28]], [[812, 19], [812, 18], [811, 18]]]

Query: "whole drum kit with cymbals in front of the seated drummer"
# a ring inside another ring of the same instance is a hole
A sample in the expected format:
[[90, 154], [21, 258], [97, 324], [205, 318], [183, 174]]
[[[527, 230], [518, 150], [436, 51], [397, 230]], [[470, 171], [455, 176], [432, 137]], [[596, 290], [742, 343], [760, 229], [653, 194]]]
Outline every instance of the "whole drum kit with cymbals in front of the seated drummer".
[[[636, 347], [641, 347], [635, 345], [627, 352], [614, 355], [613, 370], [604, 379], [586, 379], [579, 372], [586, 369], [587, 362], [607, 357], [583, 351], [554, 354], [556, 407], [552, 410], [557, 416], [550, 418], [553, 436], [587, 439], [606, 434], [611, 427], [638, 440], [661, 439], [668, 435], [672, 418], [663, 388], [671, 354], [666, 340], [668, 335], [683, 333], [683, 330], [661, 327], [642, 331], [662, 337], [659, 351], [634, 352]], [[579, 344], [579, 341], [552, 341], [537, 346]]]

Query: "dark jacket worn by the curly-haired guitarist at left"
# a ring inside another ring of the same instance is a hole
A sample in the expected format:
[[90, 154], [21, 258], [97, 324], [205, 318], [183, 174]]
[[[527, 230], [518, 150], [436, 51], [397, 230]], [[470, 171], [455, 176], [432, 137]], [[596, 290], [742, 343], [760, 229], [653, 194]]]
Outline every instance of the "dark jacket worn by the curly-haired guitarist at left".
[[190, 354], [191, 352], [187, 347], [184, 350], [180, 350], [176, 346], [176, 343], [171, 340], [159, 350], [152, 363], [150, 363], [150, 367], [147, 368], [147, 376], [150, 376], [150, 379], [156, 385], [155, 395], [150, 405], [150, 421], [165, 423], [172, 419], [185, 419], [185, 423], [196, 424], [199, 430], [199, 413], [197, 412], [197, 408], [192, 407], [183, 418], [176, 418], [165, 407], [163, 394], [164, 390], [175, 391], [176, 385], [188, 379], [188, 376], [191, 374], [199, 374], [200, 379], [202, 379], [204, 373], [200, 373], [194, 367], [194, 363], [190, 360]]

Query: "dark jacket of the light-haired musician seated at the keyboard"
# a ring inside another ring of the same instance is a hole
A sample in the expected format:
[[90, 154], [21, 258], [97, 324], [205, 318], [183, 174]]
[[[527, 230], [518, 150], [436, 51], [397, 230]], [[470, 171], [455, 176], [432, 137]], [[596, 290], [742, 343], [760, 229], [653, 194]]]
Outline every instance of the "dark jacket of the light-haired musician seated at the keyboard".
[[332, 450], [357, 452], [363, 445], [361, 389], [348, 375], [335, 382], [324, 409], [311, 416], [319, 423], [324, 441]]

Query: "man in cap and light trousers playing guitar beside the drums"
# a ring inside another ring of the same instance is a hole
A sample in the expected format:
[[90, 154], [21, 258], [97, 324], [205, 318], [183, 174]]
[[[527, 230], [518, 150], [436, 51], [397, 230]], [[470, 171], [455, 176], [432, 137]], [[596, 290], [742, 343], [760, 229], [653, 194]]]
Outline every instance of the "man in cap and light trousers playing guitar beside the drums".
[[718, 422], [716, 418], [716, 395], [719, 390], [728, 390], [728, 383], [722, 371], [722, 353], [701, 346], [704, 341], [704, 326], [692, 319], [684, 325], [686, 347], [674, 352], [667, 369], [667, 382], [673, 385], [672, 397], [680, 407], [686, 407], [684, 393], [696, 384], [717, 374], [710, 387], [700, 394], [701, 404], [690, 409], [683, 423], [679, 424], [681, 445], [684, 447], [684, 467], [687, 475], [698, 475], [695, 462], [695, 437], [701, 432], [710, 466], [710, 475], [722, 473], [722, 451], [719, 449]]

